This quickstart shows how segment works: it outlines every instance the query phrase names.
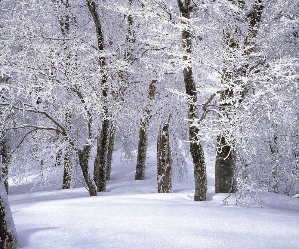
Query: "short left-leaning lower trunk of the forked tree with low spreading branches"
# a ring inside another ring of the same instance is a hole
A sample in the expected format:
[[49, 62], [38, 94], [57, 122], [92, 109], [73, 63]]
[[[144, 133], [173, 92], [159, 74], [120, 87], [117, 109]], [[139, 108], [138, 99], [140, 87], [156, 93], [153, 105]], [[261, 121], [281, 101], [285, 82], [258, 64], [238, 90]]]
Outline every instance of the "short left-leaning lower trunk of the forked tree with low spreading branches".
[[89, 172], [90, 151], [91, 151], [91, 145], [86, 144], [84, 146], [83, 152], [82, 151], [78, 152], [79, 165], [81, 167], [85, 183], [88, 186], [89, 196], [97, 196], [97, 188]]

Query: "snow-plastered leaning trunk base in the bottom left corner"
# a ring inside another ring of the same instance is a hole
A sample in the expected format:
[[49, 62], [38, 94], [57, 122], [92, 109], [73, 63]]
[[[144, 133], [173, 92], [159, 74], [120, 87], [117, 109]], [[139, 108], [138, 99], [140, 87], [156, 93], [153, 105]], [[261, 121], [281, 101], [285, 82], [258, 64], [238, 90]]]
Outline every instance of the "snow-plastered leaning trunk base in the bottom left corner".
[[[2, 161], [2, 158], [0, 158], [0, 161]], [[15, 249], [17, 247], [17, 231], [8, 204], [8, 196], [1, 171], [2, 163], [0, 162], [0, 248]]]

